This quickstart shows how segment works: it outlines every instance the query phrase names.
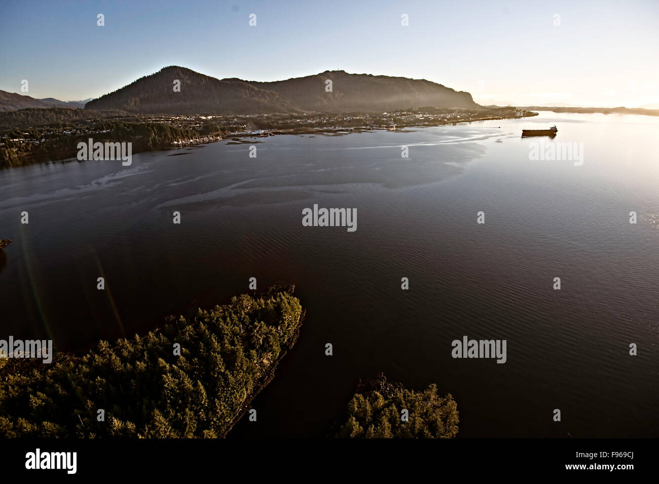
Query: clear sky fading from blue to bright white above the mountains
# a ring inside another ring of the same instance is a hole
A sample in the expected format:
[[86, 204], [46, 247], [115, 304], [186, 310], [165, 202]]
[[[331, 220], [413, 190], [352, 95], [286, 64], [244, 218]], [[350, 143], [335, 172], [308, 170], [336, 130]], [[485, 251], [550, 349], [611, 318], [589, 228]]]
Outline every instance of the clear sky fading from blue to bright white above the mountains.
[[658, 25], [659, 0], [0, 0], [0, 90], [87, 99], [179, 65], [423, 78], [485, 105], [659, 108]]

